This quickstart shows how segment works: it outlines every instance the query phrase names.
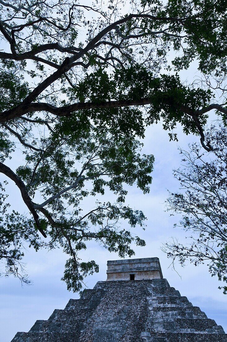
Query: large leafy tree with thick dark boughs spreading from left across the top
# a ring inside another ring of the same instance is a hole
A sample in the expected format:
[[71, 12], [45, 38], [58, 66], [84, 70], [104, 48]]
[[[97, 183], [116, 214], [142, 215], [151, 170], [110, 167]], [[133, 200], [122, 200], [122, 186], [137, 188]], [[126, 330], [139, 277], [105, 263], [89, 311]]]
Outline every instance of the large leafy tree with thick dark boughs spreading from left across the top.
[[[135, 226], [145, 219], [124, 205], [124, 184], [149, 191], [153, 156], [141, 156], [136, 140], [147, 125], [163, 120], [176, 140], [171, 131], [180, 123], [212, 149], [203, 126], [210, 110], [225, 119], [227, 109], [211, 102], [210, 89], [188, 87], [176, 72], [196, 59], [203, 74], [226, 75], [225, 1], [130, 6], [128, 14], [119, 1], [0, 0], [0, 172], [18, 186], [32, 215], [7, 213], [2, 190], [6, 274], [27, 281], [18, 266], [24, 240], [35, 249], [60, 244], [70, 255], [63, 279], [78, 290], [98, 269], [94, 261], [79, 262], [86, 241], [96, 239], [120, 256], [132, 255], [133, 240], [145, 244], [117, 222]], [[170, 49], [176, 58], [168, 65]], [[16, 148], [22, 161], [12, 170], [7, 165]], [[84, 197], [107, 188], [116, 203], [98, 199], [81, 213]]]

